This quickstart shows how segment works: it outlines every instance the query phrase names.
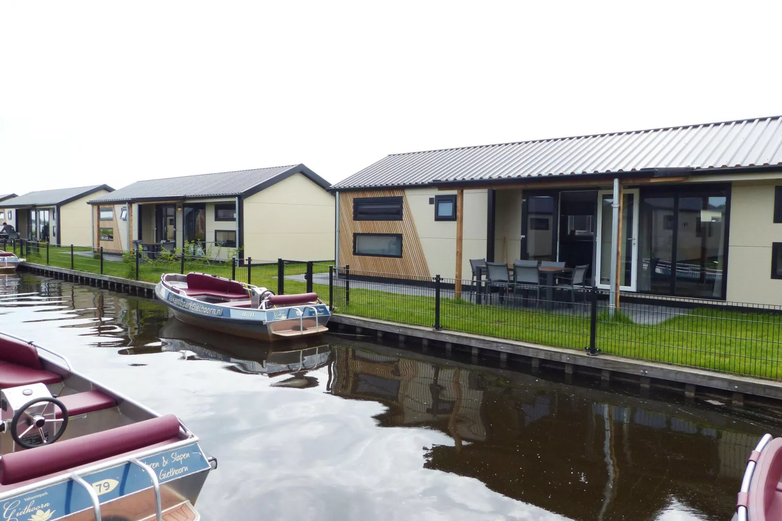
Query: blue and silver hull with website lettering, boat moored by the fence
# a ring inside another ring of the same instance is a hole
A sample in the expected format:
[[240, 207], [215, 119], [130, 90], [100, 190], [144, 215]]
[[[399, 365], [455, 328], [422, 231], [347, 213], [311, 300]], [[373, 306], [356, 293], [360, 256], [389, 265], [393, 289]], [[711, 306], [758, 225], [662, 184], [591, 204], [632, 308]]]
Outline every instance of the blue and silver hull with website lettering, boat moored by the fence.
[[321, 335], [328, 331], [331, 318], [325, 304], [269, 310], [225, 307], [178, 295], [162, 282], [155, 287], [155, 295], [185, 324], [267, 342]]

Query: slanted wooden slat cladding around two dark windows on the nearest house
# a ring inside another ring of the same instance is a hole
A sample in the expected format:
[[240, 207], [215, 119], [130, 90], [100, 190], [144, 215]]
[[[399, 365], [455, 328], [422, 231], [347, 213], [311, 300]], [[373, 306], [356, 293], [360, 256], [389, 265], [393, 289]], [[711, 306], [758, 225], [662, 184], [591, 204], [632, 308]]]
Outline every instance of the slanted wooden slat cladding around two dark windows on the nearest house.
[[[353, 221], [356, 197], [402, 197], [402, 221]], [[402, 257], [353, 255], [353, 233], [396, 233], [402, 235]], [[380, 271], [400, 275], [429, 277], [421, 240], [415, 230], [413, 214], [404, 190], [339, 192], [339, 264], [361, 271]]]

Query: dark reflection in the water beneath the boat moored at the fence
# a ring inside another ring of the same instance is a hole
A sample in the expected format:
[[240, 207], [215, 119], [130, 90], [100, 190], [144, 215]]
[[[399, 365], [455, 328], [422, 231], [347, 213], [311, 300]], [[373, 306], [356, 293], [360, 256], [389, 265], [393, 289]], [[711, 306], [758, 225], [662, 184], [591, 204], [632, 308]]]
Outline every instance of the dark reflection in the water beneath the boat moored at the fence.
[[317, 386], [317, 379], [308, 377], [306, 372], [326, 366], [332, 353], [331, 347], [320, 338], [272, 344], [200, 329], [171, 318], [160, 329], [160, 345], [127, 348], [120, 350], [120, 354], [160, 351], [179, 351], [189, 360], [224, 361], [236, 372], [273, 377], [290, 374], [292, 378], [272, 385], [299, 388]]

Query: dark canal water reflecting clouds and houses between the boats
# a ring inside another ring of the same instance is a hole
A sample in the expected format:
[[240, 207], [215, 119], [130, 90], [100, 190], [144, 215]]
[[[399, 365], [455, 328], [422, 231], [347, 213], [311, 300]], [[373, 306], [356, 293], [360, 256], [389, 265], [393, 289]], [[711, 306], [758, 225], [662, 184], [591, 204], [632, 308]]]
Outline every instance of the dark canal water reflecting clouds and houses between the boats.
[[204, 519], [730, 519], [770, 410], [325, 336], [266, 345], [155, 300], [0, 275], [0, 330], [178, 415]]

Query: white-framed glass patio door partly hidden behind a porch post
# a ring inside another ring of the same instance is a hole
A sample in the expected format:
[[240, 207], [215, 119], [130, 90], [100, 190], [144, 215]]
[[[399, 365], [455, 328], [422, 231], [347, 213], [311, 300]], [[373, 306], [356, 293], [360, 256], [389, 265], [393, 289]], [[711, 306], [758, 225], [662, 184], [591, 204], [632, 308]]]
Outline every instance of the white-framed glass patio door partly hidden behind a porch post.
[[[611, 239], [614, 235], [612, 190], [597, 192], [597, 266], [595, 280], [597, 287], [610, 289], [611, 286]], [[637, 286], [638, 257], [638, 189], [622, 191], [621, 221], [622, 251], [619, 257], [619, 289], [635, 291]]]

